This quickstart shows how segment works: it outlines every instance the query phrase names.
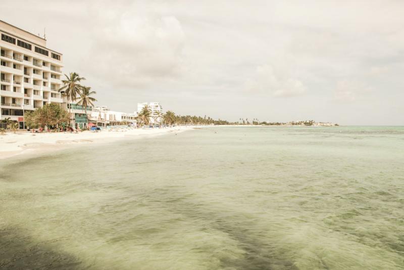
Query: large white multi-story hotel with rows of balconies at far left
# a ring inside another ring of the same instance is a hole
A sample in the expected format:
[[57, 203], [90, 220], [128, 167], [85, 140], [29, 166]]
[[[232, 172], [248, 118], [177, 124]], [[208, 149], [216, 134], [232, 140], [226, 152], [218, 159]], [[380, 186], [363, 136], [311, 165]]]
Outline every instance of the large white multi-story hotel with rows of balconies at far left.
[[24, 112], [63, 102], [62, 54], [46, 48], [46, 39], [0, 21], [0, 119], [24, 127]]

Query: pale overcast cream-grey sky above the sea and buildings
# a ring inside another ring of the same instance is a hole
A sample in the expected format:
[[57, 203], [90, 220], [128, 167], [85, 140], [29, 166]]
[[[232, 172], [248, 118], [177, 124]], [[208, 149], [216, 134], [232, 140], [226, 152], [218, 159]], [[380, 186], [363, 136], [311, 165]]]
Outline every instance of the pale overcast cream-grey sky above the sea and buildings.
[[97, 105], [404, 125], [404, 1], [1, 0]]

